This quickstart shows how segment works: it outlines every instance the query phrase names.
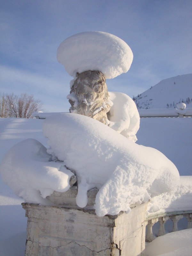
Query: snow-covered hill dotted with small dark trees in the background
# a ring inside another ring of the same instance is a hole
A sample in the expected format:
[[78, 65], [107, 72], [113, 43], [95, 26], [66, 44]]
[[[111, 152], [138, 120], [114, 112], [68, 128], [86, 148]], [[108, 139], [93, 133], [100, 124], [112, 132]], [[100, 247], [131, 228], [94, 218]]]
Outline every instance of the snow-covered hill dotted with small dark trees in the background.
[[192, 74], [164, 79], [133, 100], [138, 109], [174, 108], [179, 102], [192, 108]]

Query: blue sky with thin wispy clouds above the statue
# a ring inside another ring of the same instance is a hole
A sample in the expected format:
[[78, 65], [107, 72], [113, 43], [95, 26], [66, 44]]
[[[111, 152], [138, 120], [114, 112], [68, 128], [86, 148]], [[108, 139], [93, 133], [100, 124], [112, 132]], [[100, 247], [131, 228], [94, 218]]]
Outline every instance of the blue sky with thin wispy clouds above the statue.
[[105, 31], [132, 49], [126, 74], [106, 80], [130, 97], [162, 79], [192, 73], [192, 1], [0, 1], [0, 92], [27, 92], [44, 110], [68, 111], [72, 79], [57, 62], [60, 43]]

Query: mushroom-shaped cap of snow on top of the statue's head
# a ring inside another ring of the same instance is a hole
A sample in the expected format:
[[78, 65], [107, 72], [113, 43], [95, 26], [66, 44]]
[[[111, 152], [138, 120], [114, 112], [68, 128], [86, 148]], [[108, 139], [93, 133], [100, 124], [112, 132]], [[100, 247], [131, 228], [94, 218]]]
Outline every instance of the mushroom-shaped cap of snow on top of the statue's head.
[[129, 45], [112, 34], [82, 32], [65, 39], [57, 50], [57, 60], [70, 76], [87, 70], [99, 70], [106, 79], [126, 73], [132, 63]]

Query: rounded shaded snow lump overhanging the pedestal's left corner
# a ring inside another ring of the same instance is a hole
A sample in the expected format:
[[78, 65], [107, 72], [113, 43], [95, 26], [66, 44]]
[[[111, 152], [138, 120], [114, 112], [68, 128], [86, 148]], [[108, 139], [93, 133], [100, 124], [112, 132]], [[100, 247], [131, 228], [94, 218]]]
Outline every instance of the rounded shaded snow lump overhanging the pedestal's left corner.
[[25, 202], [48, 204], [44, 199], [54, 190], [65, 192], [74, 174], [52, 156], [37, 140], [27, 139], [15, 144], [4, 156], [0, 172], [5, 184]]

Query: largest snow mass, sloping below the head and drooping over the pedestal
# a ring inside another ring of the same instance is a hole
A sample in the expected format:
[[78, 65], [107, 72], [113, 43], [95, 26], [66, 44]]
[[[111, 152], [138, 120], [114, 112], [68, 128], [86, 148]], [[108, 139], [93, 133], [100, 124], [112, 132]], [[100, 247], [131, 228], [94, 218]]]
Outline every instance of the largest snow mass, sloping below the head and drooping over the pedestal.
[[50, 146], [47, 152], [76, 172], [77, 205], [86, 206], [88, 189], [100, 189], [95, 201], [98, 216], [129, 212], [130, 204], [146, 202], [179, 183], [177, 168], [161, 152], [137, 145], [87, 116], [50, 116], [43, 133]]

